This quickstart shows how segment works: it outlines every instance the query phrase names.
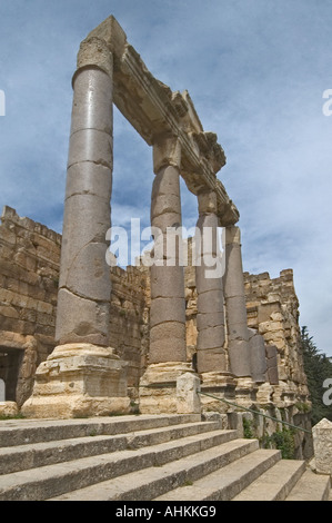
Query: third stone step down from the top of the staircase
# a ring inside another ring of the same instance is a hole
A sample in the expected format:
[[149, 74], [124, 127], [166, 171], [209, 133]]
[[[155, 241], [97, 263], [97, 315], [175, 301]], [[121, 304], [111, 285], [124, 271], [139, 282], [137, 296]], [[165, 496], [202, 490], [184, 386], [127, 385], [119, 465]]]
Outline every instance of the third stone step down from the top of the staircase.
[[[234, 440], [235, 434], [235, 431], [212, 431], [149, 447], [3, 474], [0, 476], [0, 501], [42, 501], [134, 471], [161, 466], [211, 447], [214, 447], [212, 454], [215, 450], [218, 462], [218, 447]], [[245, 440], [243, 445], [256, 446], [258, 441]]]

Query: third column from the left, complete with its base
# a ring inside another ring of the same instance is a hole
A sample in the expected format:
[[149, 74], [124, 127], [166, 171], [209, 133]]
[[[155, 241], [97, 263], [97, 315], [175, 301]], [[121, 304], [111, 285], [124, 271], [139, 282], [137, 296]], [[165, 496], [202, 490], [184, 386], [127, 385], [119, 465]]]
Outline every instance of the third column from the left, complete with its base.
[[[218, 236], [217, 195], [213, 190], [198, 194], [199, 219], [195, 239], [195, 284], [198, 293], [198, 373], [202, 379], [202, 391], [213, 395], [233, 397], [235, 381], [228, 372], [224, 348], [224, 297], [223, 270], [220, 241]], [[228, 408], [225, 404], [202, 396], [207, 408], [217, 411]]]

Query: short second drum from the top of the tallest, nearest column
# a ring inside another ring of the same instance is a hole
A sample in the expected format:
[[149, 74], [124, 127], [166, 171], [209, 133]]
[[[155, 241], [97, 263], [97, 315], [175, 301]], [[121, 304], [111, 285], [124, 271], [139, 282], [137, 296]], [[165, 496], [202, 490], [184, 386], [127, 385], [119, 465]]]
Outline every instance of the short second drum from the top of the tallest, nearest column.
[[113, 138], [108, 132], [97, 129], [82, 129], [73, 132], [69, 144], [67, 167], [83, 161], [113, 167]]

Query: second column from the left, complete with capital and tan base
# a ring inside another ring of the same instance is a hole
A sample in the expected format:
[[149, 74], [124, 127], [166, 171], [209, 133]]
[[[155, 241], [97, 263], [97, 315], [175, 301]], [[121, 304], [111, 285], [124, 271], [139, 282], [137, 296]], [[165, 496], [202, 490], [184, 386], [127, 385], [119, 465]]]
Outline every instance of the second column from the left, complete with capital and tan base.
[[159, 137], [153, 146], [155, 178], [152, 187], [151, 225], [154, 257], [150, 273], [149, 365], [140, 382], [140, 411], [144, 413], [179, 412], [181, 407], [178, 408], [177, 402], [177, 378], [192, 371], [187, 363], [181, 239], [177, 248], [170, 251], [170, 241], [174, 240], [175, 228], [181, 227], [182, 221], [180, 165], [179, 140], [172, 136]]

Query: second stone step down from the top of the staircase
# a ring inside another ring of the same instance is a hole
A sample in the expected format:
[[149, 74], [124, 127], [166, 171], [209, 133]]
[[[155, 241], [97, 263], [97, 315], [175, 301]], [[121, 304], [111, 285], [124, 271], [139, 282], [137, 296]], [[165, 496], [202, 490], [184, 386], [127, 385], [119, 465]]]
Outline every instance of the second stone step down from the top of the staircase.
[[[157, 445], [158, 443], [165, 443], [181, 437], [218, 431], [219, 428], [219, 421], [195, 422], [154, 428], [153, 431], [140, 430], [121, 435], [98, 436], [92, 433], [90, 426], [90, 436], [72, 437], [70, 440], [46, 443], [27, 443], [26, 445], [18, 445], [16, 447], [8, 446], [0, 448], [0, 474], [9, 474], [128, 448], [133, 450], [142, 446]], [[235, 437], [235, 435], [237, 433], [234, 431], [233, 436]]]

